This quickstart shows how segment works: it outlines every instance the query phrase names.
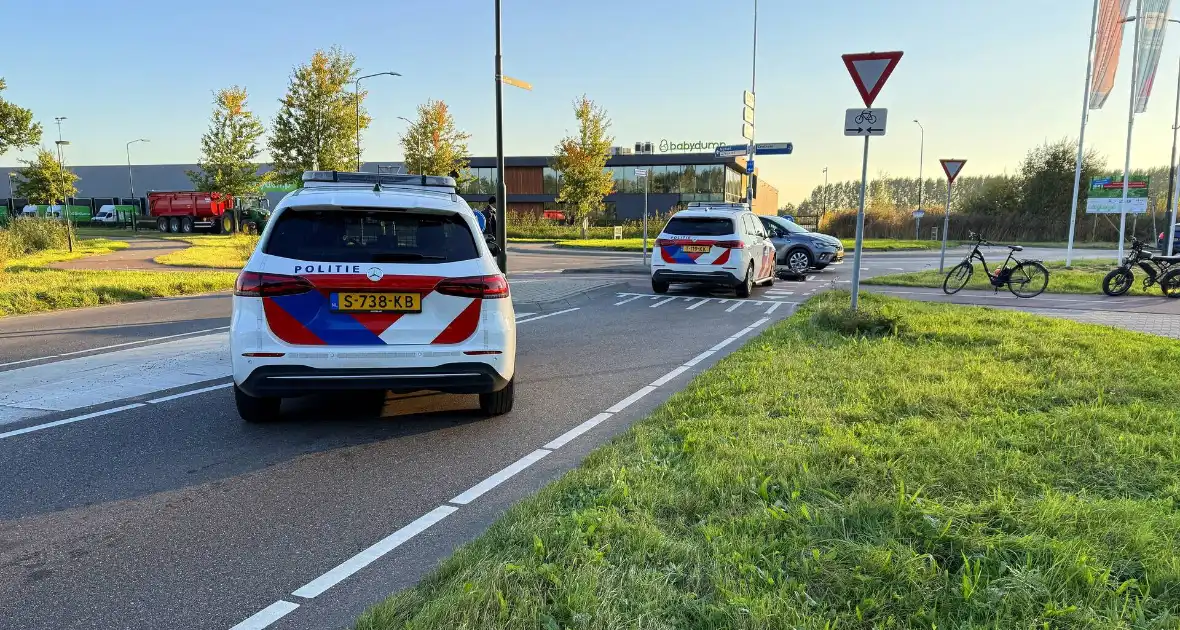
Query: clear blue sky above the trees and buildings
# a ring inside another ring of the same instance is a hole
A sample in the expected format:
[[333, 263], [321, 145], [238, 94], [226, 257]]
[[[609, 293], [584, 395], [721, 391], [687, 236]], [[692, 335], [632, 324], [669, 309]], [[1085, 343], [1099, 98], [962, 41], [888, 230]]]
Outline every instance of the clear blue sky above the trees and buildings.
[[[496, 150], [492, 0], [278, 2], [204, 0], [15, 0], [0, 53], [4, 96], [33, 109], [55, 139], [65, 116], [72, 164], [195, 162], [211, 92], [243, 85], [269, 124], [291, 68], [317, 47], [340, 45], [366, 72], [374, 117], [366, 159], [400, 159], [398, 140], [428, 98], [452, 107], [477, 156]], [[347, 7], [347, 8], [346, 8]], [[753, 0], [504, 0], [505, 150], [544, 155], [573, 129], [583, 92], [607, 107], [616, 144], [741, 140], [741, 92], [750, 81]], [[926, 129], [925, 175], [939, 157], [965, 173], [1014, 170], [1045, 139], [1076, 137], [1090, 21], [1089, 0], [761, 0], [758, 139], [793, 142], [795, 153], [758, 160], [782, 201], [822, 181], [857, 178], [860, 142], [841, 132], [860, 105], [841, 53], [905, 52], [878, 107], [890, 130], [871, 145], [870, 173], [916, 176]], [[64, 34], [63, 34], [64, 33]], [[1128, 41], [1130, 29], [1128, 28]], [[1136, 117], [1133, 164], [1166, 164], [1171, 150], [1180, 33], [1165, 44], [1155, 92]], [[1129, 46], [1115, 91], [1093, 112], [1087, 144], [1121, 165]], [[13, 164], [15, 152], [0, 156]]]

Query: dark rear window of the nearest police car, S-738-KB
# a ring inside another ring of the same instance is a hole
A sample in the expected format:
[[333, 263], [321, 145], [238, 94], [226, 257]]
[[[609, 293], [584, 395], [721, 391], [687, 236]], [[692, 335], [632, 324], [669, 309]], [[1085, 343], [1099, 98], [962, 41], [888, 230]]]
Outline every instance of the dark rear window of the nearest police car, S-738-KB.
[[444, 263], [479, 257], [458, 215], [399, 210], [288, 210], [263, 251], [322, 262]]

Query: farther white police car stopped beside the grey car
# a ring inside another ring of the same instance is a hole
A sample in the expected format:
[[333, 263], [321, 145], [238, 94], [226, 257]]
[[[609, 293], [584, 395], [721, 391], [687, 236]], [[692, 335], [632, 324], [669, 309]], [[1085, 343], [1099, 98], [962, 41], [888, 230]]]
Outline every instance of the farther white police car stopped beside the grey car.
[[673, 283], [715, 284], [748, 297], [756, 284], [774, 284], [774, 244], [746, 204], [693, 202], [676, 212], [656, 239], [651, 289]]

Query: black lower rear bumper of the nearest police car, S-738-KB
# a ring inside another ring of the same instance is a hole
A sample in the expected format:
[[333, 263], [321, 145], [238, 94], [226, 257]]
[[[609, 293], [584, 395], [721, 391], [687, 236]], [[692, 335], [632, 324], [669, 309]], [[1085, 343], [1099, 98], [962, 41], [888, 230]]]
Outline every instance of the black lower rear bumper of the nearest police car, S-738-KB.
[[486, 363], [446, 363], [428, 368], [313, 368], [261, 366], [238, 387], [256, 398], [294, 398], [315, 392], [389, 391], [486, 394], [499, 392], [507, 379]]

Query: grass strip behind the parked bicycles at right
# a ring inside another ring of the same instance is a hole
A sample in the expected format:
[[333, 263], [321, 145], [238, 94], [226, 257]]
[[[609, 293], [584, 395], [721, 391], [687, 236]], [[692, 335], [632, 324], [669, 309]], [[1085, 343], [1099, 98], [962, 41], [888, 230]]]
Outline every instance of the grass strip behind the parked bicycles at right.
[[[996, 264], [999, 264], [999, 262], [1001, 261], [996, 261]], [[958, 264], [958, 261], [949, 262], [946, 271], [950, 271], [956, 264]], [[1116, 267], [1114, 260], [1090, 258], [1074, 261], [1070, 269], [1066, 269], [1066, 263], [1062, 261], [1049, 261], [1045, 262], [1044, 265], [1049, 269], [1049, 286], [1044, 289], [1045, 293], [1073, 294], [1101, 294], [1102, 278]], [[1135, 275], [1135, 283], [1132, 284], [1127, 295], [1161, 295], [1158, 286], [1145, 291], [1141, 282], [1143, 277], [1145, 275], [1142, 271]], [[939, 274], [938, 269], [927, 269], [925, 271], [914, 271], [910, 274], [873, 276], [871, 278], [865, 278], [861, 282], [865, 284], [887, 284], [892, 287], [942, 288], [943, 280], [945, 278], [946, 273]], [[983, 267], [978, 263], [975, 264], [975, 273], [971, 275], [971, 281], [963, 288], [991, 289], [986, 274], [983, 273]]]

